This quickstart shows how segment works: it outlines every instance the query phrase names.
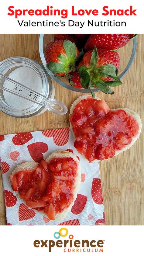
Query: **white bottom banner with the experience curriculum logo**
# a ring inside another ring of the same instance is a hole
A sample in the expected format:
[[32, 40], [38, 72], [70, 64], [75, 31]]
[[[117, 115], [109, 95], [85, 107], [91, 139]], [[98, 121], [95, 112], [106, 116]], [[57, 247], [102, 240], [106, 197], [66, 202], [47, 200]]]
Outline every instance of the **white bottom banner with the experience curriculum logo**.
[[1, 226], [1, 252], [11, 256], [94, 255], [96, 252], [106, 256], [143, 255], [142, 226], [63, 227]]

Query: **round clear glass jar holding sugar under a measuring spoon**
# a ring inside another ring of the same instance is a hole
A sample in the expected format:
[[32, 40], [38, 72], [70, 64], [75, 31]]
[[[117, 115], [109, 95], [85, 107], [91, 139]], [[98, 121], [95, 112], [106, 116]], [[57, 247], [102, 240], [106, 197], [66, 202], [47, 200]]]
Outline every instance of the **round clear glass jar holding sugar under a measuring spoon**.
[[[0, 62], [0, 73], [8, 76], [16, 68], [23, 66], [32, 68], [39, 75], [40, 81], [42, 82], [41, 94], [53, 99], [55, 94], [53, 82], [49, 74], [47, 74], [46, 70], [44, 69], [43, 65], [35, 60], [25, 57], [10, 57]], [[0, 77], [0, 86], [3, 86], [4, 81], [5, 79]], [[6, 103], [3, 90], [0, 90], [0, 110], [9, 116], [26, 118], [31, 116], [38, 116], [44, 113], [47, 109], [36, 103], [26, 109], [14, 109]]]

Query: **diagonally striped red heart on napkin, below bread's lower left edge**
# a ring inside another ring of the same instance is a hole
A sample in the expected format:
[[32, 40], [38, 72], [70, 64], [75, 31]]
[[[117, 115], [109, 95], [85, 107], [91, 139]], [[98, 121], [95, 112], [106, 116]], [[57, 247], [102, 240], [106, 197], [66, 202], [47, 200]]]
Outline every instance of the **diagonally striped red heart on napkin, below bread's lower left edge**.
[[36, 215], [35, 211], [29, 209], [27, 205], [21, 203], [19, 206], [19, 221], [29, 220]]

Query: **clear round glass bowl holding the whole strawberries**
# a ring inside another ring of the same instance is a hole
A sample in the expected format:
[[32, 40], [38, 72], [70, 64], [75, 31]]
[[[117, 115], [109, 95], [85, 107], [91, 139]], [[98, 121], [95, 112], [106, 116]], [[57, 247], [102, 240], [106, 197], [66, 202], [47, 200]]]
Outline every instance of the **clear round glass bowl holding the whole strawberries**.
[[[89, 92], [86, 89], [79, 89], [71, 86], [68, 81], [68, 77], [58, 78], [56, 77], [47, 67], [46, 67], [46, 60], [45, 60], [45, 50], [48, 43], [53, 41], [53, 34], [40, 34], [39, 35], [39, 54], [43, 66], [45, 67], [47, 73], [55, 80], [58, 84], [62, 85], [63, 87], [75, 91], [75, 92]], [[121, 79], [126, 72], [129, 70], [130, 66], [135, 57], [136, 52], [136, 37], [130, 40], [130, 42], [125, 45], [124, 47], [120, 48], [119, 55], [120, 55], [120, 68], [119, 68], [119, 78]], [[98, 92], [97, 88], [93, 89], [93, 92]]]

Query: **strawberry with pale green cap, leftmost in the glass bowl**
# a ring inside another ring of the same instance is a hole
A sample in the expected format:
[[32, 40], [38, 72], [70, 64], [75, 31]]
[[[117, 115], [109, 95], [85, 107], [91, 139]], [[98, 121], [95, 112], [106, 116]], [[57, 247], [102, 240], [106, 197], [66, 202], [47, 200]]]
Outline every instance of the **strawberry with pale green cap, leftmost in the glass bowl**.
[[59, 40], [48, 43], [45, 51], [46, 67], [57, 76], [65, 76], [76, 70], [81, 53], [75, 43]]

